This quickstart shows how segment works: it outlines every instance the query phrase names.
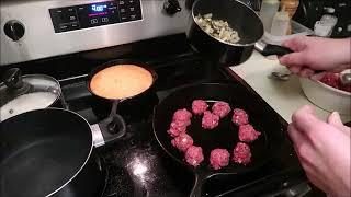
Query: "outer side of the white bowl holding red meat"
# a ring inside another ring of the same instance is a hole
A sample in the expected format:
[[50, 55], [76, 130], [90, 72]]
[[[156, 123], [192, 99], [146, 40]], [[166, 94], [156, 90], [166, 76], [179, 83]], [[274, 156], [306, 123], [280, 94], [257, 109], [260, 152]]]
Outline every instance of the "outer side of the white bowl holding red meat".
[[320, 81], [299, 78], [306, 97], [318, 107], [328, 112], [351, 114], [351, 93], [329, 86]]

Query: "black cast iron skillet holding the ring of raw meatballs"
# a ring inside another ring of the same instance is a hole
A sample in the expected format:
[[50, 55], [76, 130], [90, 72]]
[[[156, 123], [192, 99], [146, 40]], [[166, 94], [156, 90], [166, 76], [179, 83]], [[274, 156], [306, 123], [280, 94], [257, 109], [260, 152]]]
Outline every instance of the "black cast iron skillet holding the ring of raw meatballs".
[[[244, 166], [235, 164], [231, 161], [227, 167], [219, 171], [212, 170], [210, 166], [211, 150], [225, 148], [233, 154], [234, 147], [239, 141], [238, 127], [231, 123], [233, 112], [222, 119], [219, 126], [214, 130], [202, 129], [202, 116], [193, 116], [192, 124], [188, 127], [188, 134], [193, 138], [195, 146], [203, 148], [205, 160], [197, 167], [190, 166], [183, 160], [184, 154], [172, 147], [172, 138], [167, 134], [167, 130], [169, 129], [173, 113], [184, 107], [191, 111], [192, 101], [195, 99], [207, 101], [210, 107], [212, 107], [215, 101], [225, 101], [230, 104], [231, 108], [239, 107], [249, 114], [250, 124], [262, 134], [258, 140], [250, 144], [252, 152], [251, 163]], [[201, 187], [211, 176], [253, 171], [267, 163], [274, 155], [274, 150], [279, 150], [283, 141], [283, 128], [279, 124], [275, 112], [262, 103], [264, 102], [245, 88], [239, 86], [239, 84], [202, 83], [185, 86], [173, 92], [156, 107], [152, 121], [156, 139], [173, 160], [182, 163], [195, 174], [195, 183], [191, 196], [201, 196]]]

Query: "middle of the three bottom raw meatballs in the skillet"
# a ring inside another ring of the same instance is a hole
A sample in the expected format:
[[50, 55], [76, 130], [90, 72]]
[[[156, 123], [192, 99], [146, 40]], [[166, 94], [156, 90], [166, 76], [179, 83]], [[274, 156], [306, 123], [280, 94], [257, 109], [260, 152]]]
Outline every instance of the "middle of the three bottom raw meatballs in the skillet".
[[214, 170], [219, 170], [229, 164], [230, 154], [226, 149], [214, 149], [211, 151], [210, 163]]

